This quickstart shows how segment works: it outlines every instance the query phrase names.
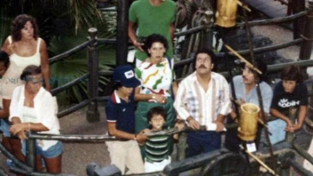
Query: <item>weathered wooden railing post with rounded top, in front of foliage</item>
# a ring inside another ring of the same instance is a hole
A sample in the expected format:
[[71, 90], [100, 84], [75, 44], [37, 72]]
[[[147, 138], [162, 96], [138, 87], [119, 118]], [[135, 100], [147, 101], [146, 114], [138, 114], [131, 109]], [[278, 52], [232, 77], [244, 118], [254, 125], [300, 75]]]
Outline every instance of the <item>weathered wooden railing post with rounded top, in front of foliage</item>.
[[99, 70], [99, 54], [98, 54], [98, 43], [97, 43], [97, 29], [91, 27], [88, 29], [89, 40], [91, 41], [88, 46], [88, 71], [89, 71], [89, 106], [87, 111], [88, 122], [100, 121], [100, 115], [98, 110], [98, 103], [96, 98], [98, 97], [98, 70]]

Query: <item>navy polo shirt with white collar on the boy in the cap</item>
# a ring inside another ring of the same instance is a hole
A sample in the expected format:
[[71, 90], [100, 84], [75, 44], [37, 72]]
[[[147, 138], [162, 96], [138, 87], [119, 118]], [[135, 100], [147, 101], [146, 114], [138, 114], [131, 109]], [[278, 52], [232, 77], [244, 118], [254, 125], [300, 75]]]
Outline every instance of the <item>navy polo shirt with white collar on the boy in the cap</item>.
[[129, 97], [129, 102], [126, 102], [117, 96], [115, 90], [106, 105], [107, 123], [115, 123], [116, 129], [134, 133], [134, 108], [134, 93]]

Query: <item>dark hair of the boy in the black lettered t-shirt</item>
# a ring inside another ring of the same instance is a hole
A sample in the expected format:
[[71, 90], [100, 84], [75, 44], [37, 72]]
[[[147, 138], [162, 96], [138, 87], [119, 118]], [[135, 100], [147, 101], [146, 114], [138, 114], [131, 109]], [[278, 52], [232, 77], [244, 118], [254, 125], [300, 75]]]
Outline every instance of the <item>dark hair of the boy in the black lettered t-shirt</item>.
[[290, 65], [284, 69], [280, 78], [282, 80], [291, 80], [296, 83], [301, 83], [303, 81], [303, 75], [299, 66]]

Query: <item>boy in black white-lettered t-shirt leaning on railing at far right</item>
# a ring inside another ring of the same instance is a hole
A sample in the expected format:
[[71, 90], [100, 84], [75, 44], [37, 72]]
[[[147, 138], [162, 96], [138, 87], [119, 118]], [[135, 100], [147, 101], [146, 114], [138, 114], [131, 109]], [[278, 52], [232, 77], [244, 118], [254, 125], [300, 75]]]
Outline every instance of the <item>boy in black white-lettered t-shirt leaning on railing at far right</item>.
[[[282, 75], [282, 81], [275, 85], [270, 113], [287, 123], [286, 131], [293, 133], [299, 130], [304, 122], [308, 108], [308, 89], [302, 83], [302, 74], [298, 66], [287, 67]], [[298, 121], [292, 124], [288, 118], [289, 108], [298, 109]]]

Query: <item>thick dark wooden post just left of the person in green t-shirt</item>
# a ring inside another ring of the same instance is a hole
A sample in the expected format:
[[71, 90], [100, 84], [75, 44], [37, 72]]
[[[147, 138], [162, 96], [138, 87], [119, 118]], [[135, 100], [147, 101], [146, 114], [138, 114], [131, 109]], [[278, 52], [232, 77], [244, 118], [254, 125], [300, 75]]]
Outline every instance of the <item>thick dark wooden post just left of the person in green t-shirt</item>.
[[117, 35], [116, 35], [116, 66], [127, 64], [128, 52], [128, 7], [129, 0], [118, 0], [117, 4]]

